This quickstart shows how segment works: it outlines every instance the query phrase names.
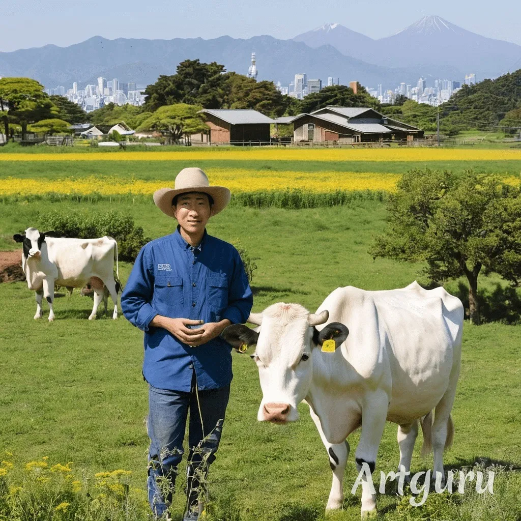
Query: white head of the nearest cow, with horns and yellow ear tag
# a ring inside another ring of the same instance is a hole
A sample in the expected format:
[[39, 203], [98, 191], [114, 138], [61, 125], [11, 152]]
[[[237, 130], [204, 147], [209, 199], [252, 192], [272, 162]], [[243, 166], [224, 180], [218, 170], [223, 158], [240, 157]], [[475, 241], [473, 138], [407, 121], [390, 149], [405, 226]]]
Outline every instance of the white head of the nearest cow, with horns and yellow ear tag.
[[279, 303], [250, 315], [248, 321], [259, 327], [235, 324], [222, 332], [222, 338], [234, 348], [256, 345], [251, 357], [257, 364], [263, 391], [259, 421], [284, 424], [299, 419], [297, 405], [311, 386], [313, 362], [321, 356], [320, 346], [332, 339], [336, 349], [349, 334], [339, 322], [318, 331], [315, 326], [325, 324], [328, 317], [328, 311], [313, 314], [299, 304]]

